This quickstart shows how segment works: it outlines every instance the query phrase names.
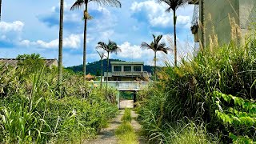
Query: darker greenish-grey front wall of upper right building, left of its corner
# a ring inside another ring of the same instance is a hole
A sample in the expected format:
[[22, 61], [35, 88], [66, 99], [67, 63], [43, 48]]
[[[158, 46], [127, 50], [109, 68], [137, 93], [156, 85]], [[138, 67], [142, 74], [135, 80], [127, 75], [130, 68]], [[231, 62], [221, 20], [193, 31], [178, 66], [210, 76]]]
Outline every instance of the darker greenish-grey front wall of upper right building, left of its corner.
[[205, 12], [206, 45], [213, 34], [218, 35], [219, 44], [230, 42], [230, 18], [234, 18], [237, 24], [240, 22], [239, 0], [205, 0]]

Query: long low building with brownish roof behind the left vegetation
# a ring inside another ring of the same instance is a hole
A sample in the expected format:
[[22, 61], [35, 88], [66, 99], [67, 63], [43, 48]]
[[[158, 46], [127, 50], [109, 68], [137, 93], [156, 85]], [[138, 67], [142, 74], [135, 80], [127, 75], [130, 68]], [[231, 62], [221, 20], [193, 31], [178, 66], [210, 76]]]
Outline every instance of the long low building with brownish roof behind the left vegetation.
[[[47, 67], [52, 68], [53, 66], [58, 66], [58, 60], [56, 58], [42, 60], [44, 60]], [[21, 60], [16, 58], [0, 58], [0, 63], [5, 63], [7, 66], [17, 66], [19, 61]]]

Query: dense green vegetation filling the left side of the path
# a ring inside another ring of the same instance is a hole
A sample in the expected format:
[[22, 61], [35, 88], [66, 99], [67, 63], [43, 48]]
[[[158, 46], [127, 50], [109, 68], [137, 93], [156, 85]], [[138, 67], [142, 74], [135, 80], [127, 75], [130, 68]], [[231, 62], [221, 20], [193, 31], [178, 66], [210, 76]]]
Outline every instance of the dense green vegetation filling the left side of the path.
[[94, 138], [117, 114], [114, 90], [102, 95], [88, 86], [85, 98], [82, 77], [64, 70], [58, 94], [57, 68], [46, 68], [43, 62], [26, 64], [31, 61], [42, 60], [25, 58], [17, 67], [0, 65], [0, 143], [82, 142]]

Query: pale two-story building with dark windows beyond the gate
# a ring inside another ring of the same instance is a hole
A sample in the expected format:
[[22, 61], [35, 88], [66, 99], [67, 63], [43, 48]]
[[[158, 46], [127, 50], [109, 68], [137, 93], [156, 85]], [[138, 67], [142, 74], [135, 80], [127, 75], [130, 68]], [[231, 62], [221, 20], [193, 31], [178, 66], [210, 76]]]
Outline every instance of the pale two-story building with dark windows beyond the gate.
[[[110, 62], [110, 81], [150, 81], [151, 73], [143, 71], [144, 62]], [[104, 73], [106, 80], [106, 72]]]

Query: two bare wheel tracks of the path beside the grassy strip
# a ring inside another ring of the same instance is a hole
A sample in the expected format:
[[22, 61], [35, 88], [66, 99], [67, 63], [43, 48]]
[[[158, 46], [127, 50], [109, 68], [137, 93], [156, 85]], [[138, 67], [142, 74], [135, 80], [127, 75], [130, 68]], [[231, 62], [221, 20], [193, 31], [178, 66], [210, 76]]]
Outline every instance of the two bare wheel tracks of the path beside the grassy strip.
[[[86, 140], [83, 142], [84, 144], [118, 144], [118, 138], [115, 137], [114, 130], [118, 128], [118, 126], [122, 123], [121, 118], [124, 114], [124, 110], [119, 110], [119, 114], [117, 118], [114, 118], [112, 122], [110, 122], [109, 127], [103, 129], [98, 135], [96, 139]], [[141, 125], [135, 120], [138, 117], [138, 114], [135, 114], [134, 111], [131, 112], [133, 120], [131, 125], [134, 127], [135, 132], [139, 135], [139, 131], [141, 130]], [[146, 143], [146, 140], [142, 137], [138, 137], [138, 141], [140, 144]]]

